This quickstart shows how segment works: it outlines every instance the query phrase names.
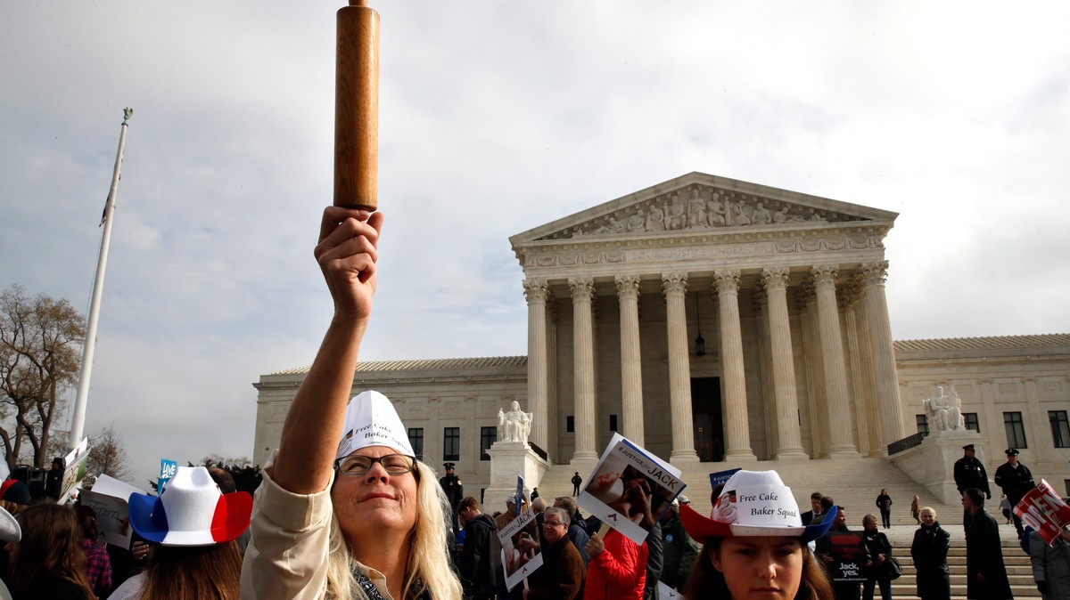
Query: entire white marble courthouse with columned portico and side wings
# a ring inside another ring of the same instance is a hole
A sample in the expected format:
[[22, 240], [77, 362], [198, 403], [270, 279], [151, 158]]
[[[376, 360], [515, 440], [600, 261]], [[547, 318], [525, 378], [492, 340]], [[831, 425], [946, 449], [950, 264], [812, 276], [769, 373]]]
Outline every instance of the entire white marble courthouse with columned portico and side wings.
[[[738, 464], [885, 456], [928, 427], [920, 399], [954, 385], [968, 427], [1030, 448], [1059, 487], [1070, 336], [893, 343], [897, 216], [689, 173], [510, 238], [526, 357], [363, 363], [354, 394], [386, 394], [427, 462], [480, 485], [513, 400], [553, 463], [593, 462], [620, 432], [673, 463]], [[255, 384], [258, 463], [306, 372]]]

